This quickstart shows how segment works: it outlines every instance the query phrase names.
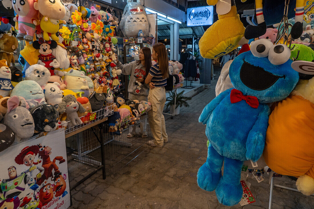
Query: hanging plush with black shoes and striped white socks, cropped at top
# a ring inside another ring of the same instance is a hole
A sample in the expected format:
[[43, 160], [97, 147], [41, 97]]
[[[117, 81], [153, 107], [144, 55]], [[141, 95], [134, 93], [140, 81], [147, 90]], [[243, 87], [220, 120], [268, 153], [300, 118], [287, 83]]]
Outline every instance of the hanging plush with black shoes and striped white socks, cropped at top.
[[[246, 0], [241, 0], [245, 2]], [[255, 18], [257, 25], [248, 25], [245, 31], [246, 39], [253, 39], [266, 33], [266, 26], [280, 22], [284, 15], [284, 4], [286, 0], [255, 0]], [[295, 14], [295, 24], [291, 28], [291, 37], [297, 39], [303, 32], [303, 17], [305, 0], [294, 0], [295, 5], [290, 1], [288, 10], [288, 19], [293, 18]], [[264, 18], [265, 17], [265, 18]]]

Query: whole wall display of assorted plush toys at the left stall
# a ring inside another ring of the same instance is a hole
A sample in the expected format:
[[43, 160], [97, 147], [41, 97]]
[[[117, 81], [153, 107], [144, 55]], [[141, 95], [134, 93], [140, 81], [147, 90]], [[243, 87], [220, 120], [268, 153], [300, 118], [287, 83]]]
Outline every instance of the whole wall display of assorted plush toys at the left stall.
[[[16, 16], [1, 19], [0, 151], [34, 133], [89, 123], [98, 110], [114, 110], [111, 132], [119, 134], [151, 109], [120, 92], [117, 17], [62, 0], [14, 0], [11, 7]], [[4, 27], [9, 21], [15, 28]], [[23, 70], [12, 66], [21, 42]]]

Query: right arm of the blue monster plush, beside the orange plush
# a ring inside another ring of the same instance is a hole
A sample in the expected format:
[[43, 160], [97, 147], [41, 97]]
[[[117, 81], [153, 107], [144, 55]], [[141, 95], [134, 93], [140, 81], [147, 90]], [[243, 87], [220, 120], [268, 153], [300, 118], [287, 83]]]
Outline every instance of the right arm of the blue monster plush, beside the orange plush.
[[[260, 104], [262, 105], [262, 104]], [[270, 109], [263, 104], [263, 110], [248, 134], [246, 140], [246, 159], [256, 162], [263, 154]]]

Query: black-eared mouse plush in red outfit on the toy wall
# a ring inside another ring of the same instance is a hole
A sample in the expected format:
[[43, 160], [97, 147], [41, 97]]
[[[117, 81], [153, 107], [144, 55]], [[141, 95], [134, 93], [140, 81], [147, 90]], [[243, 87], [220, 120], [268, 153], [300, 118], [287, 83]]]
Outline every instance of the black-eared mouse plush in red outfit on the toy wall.
[[56, 57], [51, 54], [52, 49], [57, 47], [57, 42], [54, 40], [45, 41], [43, 38], [40, 38], [33, 42], [33, 47], [39, 49], [40, 53], [37, 64], [45, 66], [49, 69], [51, 75], [54, 75], [55, 68], [60, 67], [60, 63]]

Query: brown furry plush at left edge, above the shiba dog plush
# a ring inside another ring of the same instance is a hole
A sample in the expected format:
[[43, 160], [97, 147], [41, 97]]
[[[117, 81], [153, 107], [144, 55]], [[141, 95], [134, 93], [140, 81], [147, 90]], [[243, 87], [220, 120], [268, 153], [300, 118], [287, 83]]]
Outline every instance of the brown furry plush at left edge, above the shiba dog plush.
[[3, 34], [0, 38], [0, 60], [5, 59], [8, 66], [11, 66], [11, 62], [15, 62], [13, 52], [17, 49], [18, 44], [18, 40], [13, 35]]

